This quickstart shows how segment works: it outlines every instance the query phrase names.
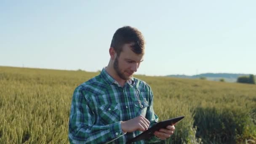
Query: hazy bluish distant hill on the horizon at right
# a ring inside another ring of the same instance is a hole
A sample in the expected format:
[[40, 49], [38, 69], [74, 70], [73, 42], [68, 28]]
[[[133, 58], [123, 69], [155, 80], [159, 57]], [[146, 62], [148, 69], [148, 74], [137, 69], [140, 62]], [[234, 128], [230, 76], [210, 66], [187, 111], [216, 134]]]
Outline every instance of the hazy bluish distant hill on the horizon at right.
[[223, 78], [226, 82], [234, 83], [237, 81], [237, 77], [240, 76], [249, 76], [249, 74], [230, 74], [230, 73], [204, 73], [200, 75], [167, 75], [167, 77], [179, 77], [179, 78], [200, 78], [206, 77], [207, 80], [219, 81]]

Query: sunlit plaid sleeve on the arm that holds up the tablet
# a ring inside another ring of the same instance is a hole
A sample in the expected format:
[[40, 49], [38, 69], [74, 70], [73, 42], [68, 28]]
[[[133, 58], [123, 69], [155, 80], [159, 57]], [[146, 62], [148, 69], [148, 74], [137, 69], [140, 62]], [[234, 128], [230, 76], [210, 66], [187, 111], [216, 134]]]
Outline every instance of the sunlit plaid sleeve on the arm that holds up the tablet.
[[[149, 127], [151, 128], [152, 125], [157, 124], [158, 122], [158, 116], [155, 114], [154, 109], [153, 109], [153, 92], [151, 88], [149, 87], [149, 108], [147, 109], [147, 114], [146, 118], [149, 120], [150, 125]], [[155, 143], [157, 141], [160, 141], [161, 139], [157, 138], [156, 136], [152, 136], [150, 139], [147, 140], [147, 143]]]

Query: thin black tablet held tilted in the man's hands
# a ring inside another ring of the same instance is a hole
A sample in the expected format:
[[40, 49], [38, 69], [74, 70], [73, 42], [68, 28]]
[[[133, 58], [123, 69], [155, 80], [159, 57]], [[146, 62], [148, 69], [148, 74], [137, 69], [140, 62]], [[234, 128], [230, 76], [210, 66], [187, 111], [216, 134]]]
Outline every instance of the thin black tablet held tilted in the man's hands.
[[131, 144], [135, 141], [140, 141], [140, 140], [147, 140], [147, 139], [151, 138], [152, 136], [154, 136], [155, 131], [158, 131], [161, 128], [166, 128], [168, 125], [177, 123], [184, 117], [185, 116], [180, 116], [180, 117], [171, 118], [169, 120], [161, 121], [161, 122], [157, 123], [156, 125], [153, 125], [147, 131], [144, 131], [143, 133], [139, 134], [138, 136], [134, 137], [133, 139], [128, 140], [126, 142], [126, 144]]

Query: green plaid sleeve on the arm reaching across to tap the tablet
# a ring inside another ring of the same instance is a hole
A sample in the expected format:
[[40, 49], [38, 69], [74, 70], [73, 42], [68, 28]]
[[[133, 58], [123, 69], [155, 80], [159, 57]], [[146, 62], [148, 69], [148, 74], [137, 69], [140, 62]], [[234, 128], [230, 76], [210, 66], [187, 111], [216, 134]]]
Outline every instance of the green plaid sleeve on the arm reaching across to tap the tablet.
[[121, 122], [111, 125], [95, 125], [95, 117], [88, 107], [85, 88], [75, 89], [69, 117], [69, 142], [71, 144], [104, 144], [118, 139], [125, 133], [121, 129]]

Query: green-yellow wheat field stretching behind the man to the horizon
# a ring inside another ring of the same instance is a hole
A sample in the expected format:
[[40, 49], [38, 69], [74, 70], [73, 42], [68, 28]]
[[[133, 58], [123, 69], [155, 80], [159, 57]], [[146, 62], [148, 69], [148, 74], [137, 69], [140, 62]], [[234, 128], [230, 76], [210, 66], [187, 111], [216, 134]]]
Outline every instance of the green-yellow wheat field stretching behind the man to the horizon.
[[[74, 89], [99, 72], [0, 67], [0, 144], [69, 143]], [[256, 85], [135, 75], [159, 120], [185, 115], [168, 144], [256, 143]]]

